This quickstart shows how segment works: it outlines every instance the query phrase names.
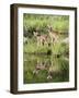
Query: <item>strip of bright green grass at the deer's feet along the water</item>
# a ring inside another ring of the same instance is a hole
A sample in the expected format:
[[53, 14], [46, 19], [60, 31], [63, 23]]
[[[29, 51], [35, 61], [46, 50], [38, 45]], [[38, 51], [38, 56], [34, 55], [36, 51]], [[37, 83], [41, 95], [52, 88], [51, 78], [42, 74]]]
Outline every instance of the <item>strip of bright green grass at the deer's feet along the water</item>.
[[65, 54], [69, 52], [69, 46], [67, 44], [57, 42], [55, 45], [37, 46], [36, 41], [29, 39], [29, 44], [24, 44], [24, 52], [26, 53], [47, 53], [50, 50], [54, 54]]

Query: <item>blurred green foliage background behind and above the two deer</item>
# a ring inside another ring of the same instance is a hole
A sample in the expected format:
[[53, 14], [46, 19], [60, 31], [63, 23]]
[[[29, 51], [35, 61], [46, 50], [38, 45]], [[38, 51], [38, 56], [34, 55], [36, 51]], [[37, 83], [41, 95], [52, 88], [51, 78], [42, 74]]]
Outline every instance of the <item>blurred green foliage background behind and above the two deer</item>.
[[47, 25], [50, 25], [58, 33], [68, 33], [68, 15], [45, 15], [45, 14], [24, 14], [23, 27], [24, 35], [32, 37], [33, 32], [37, 29], [41, 34], [47, 33]]

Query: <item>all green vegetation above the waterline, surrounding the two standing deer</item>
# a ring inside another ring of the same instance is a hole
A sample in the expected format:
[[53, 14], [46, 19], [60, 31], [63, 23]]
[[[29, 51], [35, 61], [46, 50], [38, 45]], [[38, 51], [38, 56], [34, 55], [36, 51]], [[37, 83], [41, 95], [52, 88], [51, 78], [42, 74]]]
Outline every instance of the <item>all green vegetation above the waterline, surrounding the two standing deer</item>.
[[[68, 36], [69, 30], [69, 16], [56, 16], [56, 15], [31, 15], [24, 14], [23, 25], [24, 25], [24, 38], [27, 37], [27, 45], [24, 44], [24, 52], [47, 52], [48, 49], [52, 51], [64, 52], [65, 46], [63, 44], [56, 44], [55, 46], [48, 47], [36, 45], [36, 38], [33, 35], [33, 32], [37, 29], [37, 32], [43, 35], [48, 35], [47, 25], [50, 25], [54, 30], [58, 32], [59, 40], [63, 40]], [[67, 46], [68, 47], [68, 46]], [[61, 48], [61, 49], [60, 49]], [[68, 49], [67, 49], [68, 50]]]

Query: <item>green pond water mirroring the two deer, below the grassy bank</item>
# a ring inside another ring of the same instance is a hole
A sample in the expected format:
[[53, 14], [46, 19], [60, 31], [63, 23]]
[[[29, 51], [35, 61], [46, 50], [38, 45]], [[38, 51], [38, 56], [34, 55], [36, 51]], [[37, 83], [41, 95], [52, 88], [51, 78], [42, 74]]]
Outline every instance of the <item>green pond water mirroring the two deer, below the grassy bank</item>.
[[69, 81], [69, 61], [53, 56], [24, 54], [24, 84]]

